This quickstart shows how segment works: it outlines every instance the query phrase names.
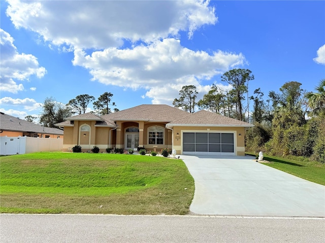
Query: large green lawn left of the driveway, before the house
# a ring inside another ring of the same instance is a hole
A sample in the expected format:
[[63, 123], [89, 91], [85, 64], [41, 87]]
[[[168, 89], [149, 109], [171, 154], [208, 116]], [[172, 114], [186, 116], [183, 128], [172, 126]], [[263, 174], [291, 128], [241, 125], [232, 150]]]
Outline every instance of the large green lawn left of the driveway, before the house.
[[182, 160], [130, 154], [3, 156], [0, 184], [1, 213], [184, 215], [194, 193]]

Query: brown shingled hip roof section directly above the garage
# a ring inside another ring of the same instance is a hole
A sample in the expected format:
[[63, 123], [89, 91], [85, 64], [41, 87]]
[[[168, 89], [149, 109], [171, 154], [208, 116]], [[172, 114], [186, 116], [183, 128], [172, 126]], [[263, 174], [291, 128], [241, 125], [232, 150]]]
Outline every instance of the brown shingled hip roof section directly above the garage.
[[206, 110], [190, 113], [166, 125], [168, 128], [175, 126], [209, 126], [209, 127], [254, 127], [245, 121], [230, 118]]

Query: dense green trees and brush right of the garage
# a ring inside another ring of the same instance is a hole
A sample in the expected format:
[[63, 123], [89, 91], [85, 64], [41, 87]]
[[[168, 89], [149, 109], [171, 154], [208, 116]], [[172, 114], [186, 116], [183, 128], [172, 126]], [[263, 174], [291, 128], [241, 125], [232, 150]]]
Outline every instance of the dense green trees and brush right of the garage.
[[301, 85], [287, 82], [280, 92], [269, 92], [266, 102], [261, 90], [255, 90], [256, 96], [251, 97], [255, 127], [246, 131], [247, 150], [325, 163], [325, 80], [316, 92], [306, 92]]

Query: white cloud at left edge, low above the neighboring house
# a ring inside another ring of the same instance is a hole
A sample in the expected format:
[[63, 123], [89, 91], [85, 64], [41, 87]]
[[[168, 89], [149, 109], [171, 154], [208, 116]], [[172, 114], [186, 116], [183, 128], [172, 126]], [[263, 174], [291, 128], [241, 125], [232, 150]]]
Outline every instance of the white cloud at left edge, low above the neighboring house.
[[17, 80], [28, 80], [29, 76], [43, 77], [46, 73], [44, 67], [39, 67], [37, 58], [30, 54], [19, 54], [14, 46], [13, 37], [3, 29], [0, 29], [1, 52], [1, 91], [17, 93], [24, 89]]

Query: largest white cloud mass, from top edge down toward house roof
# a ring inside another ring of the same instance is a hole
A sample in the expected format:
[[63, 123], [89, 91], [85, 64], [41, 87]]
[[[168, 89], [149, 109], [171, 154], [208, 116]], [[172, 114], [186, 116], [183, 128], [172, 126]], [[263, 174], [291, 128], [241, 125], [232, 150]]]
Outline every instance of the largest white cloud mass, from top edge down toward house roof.
[[[88, 69], [93, 81], [143, 88], [143, 97], [154, 104], [171, 104], [184, 85], [196, 85], [203, 97], [210, 90], [201, 85], [204, 80], [213, 83], [215, 75], [246, 64], [241, 53], [181, 46], [182, 31], [192, 38], [202, 26], [217, 23], [209, 0], [8, 3], [16, 28], [37, 32], [51, 49], [74, 51], [73, 65]], [[129, 42], [132, 48], [124, 48]]]

